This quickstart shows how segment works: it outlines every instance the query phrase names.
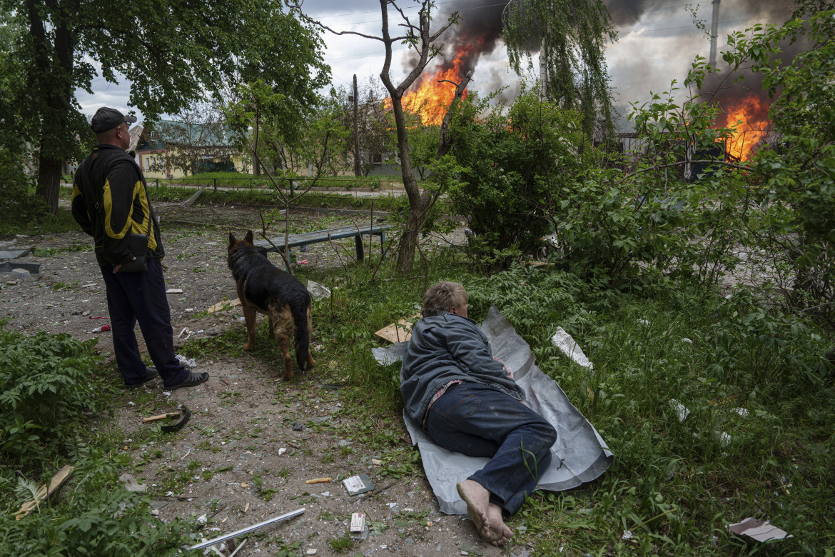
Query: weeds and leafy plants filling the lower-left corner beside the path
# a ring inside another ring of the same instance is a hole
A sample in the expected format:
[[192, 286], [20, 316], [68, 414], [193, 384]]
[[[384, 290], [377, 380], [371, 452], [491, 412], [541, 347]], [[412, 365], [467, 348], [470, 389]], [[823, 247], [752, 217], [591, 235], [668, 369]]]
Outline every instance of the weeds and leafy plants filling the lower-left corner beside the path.
[[[109, 411], [113, 391], [94, 344], [0, 328], [2, 555], [166, 555], [181, 553], [189, 540], [191, 524], [159, 522], [150, 499], [119, 481], [130, 459], [120, 450], [124, 434], [97, 419]], [[74, 473], [61, 496], [15, 519], [38, 482], [48, 483], [66, 463]]]

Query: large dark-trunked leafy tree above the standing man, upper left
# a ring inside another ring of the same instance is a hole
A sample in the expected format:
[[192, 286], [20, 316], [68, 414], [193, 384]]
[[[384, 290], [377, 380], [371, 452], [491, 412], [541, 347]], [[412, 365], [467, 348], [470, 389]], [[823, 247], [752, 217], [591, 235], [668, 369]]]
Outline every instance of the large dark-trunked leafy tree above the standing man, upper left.
[[[83, 156], [77, 138], [92, 134], [74, 92], [91, 92], [97, 76], [112, 83], [117, 72], [127, 76], [128, 104], [154, 120], [240, 78], [240, 60], [255, 59], [246, 56], [254, 37], [273, 38], [271, 56], [285, 68], [299, 71], [310, 59], [304, 49], [286, 48], [285, 40], [295, 44], [292, 36], [277, 37], [276, 29], [285, 29], [276, 22], [292, 17], [269, 0], [207, 0], [199, 8], [188, 0], [3, 0], [0, 7], [28, 29], [12, 52], [23, 68], [23, 86], [9, 103], [13, 110], [0, 119], [3, 128], [13, 126], [16, 140], [35, 146], [37, 193], [53, 212], [61, 168]], [[304, 80], [293, 85], [311, 86]]]

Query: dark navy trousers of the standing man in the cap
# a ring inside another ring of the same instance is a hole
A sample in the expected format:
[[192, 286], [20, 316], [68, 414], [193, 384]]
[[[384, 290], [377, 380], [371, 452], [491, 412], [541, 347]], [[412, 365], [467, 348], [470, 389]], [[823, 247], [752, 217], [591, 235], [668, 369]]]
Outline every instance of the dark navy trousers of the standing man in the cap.
[[124, 384], [142, 382], [147, 373], [134, 334], [137, 322], [164, 385], [172, 387], [185, 381], [189, 372], [174, 354], [171, 311], [159, 259], [149, 259], [148, 271], [141, 273], [114, 274], [113, 267], [101, 269], [113, 327], [113, 348]]

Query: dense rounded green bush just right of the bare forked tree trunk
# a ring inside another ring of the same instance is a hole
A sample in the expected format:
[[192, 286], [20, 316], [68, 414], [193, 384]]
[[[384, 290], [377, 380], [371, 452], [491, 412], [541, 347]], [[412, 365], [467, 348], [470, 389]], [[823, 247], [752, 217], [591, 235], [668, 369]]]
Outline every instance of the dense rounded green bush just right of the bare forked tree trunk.
[[453, 208], [475, 233], [470, 246], [509, 266], [542, 246], [554, 230], [549, 207], [594, 162], [579, 114], [524, 93], [508, 114], [478, 118], [472, 104], [455, 120], [452, 154], [463, 167], [449, 191]]

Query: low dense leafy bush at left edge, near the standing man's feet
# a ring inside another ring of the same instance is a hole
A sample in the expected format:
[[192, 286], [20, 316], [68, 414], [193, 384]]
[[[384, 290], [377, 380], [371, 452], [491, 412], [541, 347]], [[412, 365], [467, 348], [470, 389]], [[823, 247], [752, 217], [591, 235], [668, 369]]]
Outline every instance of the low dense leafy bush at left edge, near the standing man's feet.
[[94, 375], [96, 340], [66, 334], [27, 337], [0, 329], [0, 458], [23, 467], [73, 448], [83, 412], [106, 407], [104, 382]]

